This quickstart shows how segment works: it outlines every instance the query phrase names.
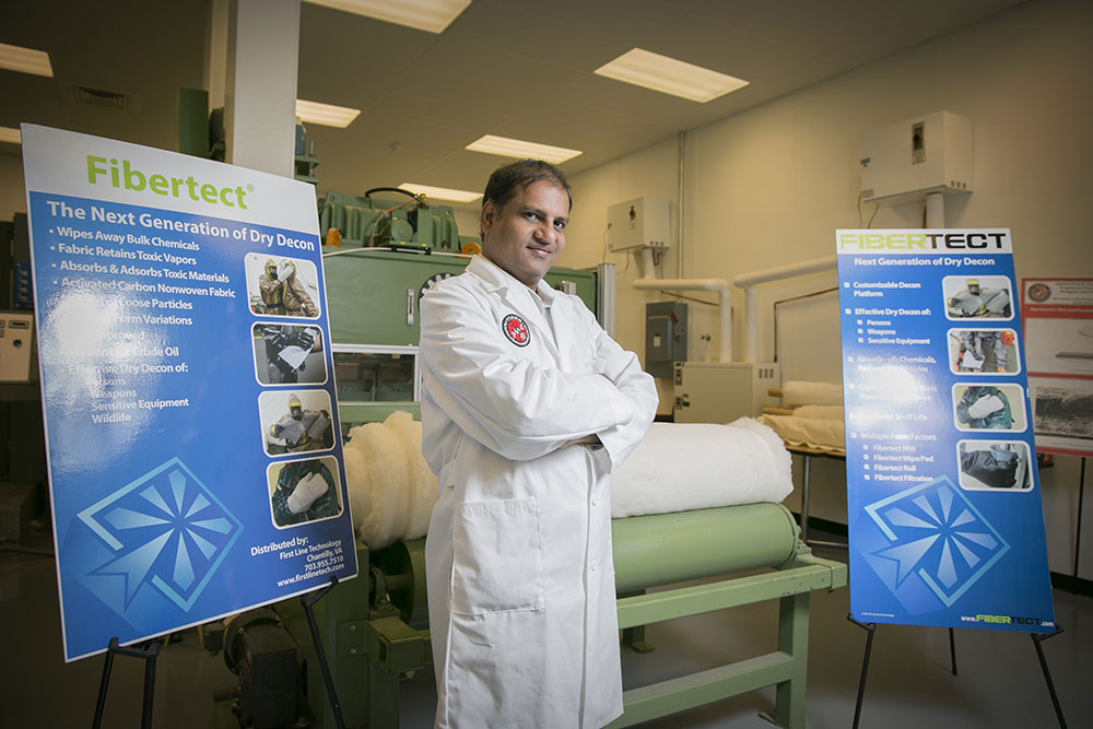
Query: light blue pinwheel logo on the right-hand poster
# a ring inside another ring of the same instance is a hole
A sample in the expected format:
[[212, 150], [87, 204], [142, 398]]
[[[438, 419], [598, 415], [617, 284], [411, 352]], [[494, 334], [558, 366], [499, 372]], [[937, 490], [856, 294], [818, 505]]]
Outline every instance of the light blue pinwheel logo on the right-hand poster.
[[945, 607], [998, 562], [1010, 545], [948, 478], [915, 486], [866, 507], [892, 544], [872, 555], [896, 563], [893, 592], [922, 580]]

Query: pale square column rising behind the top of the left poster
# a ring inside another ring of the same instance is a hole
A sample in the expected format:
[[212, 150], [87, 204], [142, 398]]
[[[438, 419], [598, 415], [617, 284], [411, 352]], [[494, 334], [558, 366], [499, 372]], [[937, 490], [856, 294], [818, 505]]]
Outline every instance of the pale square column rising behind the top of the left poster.
[[234, 0], [228, 27], [225, 161], [292, 177], [299, 0]]

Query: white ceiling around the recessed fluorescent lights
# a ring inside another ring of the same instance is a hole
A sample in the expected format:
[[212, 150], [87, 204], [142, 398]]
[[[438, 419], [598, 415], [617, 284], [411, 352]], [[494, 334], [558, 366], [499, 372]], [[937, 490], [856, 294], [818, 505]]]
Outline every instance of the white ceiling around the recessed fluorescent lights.
[[[308, 126], [320, 191], [412, 180], [478, 190], [482, 134], [583, 150], [574, 173], [980, 21], [1020, 0], [473, 0], [442, 35], [303, 3], [298, 96], [351, 106]], [[203, 89], [209, 0], [4, 0], [0, 42], [54, 79], [0, 70], [0, 126], [175, 149], [176, 93]], [[751, 82], [696, 104], [592, 74], [635, 46]], [[73, 101], [81, 85], [129, 109]], [[19, 154], [0, 143], [0, 154]], [[473, 203], [471, 203], [473, 204]]]

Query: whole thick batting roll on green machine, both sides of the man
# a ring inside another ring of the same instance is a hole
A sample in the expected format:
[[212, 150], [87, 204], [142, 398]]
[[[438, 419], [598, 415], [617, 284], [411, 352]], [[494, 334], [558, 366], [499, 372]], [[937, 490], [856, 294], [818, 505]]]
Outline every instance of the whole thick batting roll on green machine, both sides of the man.
[[[436, 477], [407, 412], [350, 431], [345, 474], [357, 537], [373, 550], [424, 537]], [[654, 423], [611, 475], [611, 516], [780, 502], [794, 490], [781, 439], [750, 418], [730, 425]]]

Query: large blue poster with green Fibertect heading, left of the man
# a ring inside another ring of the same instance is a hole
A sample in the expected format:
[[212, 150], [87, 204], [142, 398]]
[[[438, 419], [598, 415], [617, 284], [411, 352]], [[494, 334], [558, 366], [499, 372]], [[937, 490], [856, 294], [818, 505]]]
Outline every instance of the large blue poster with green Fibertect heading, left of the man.
[[66, 659], [355, 575], [314, 189], [23, 154]]

